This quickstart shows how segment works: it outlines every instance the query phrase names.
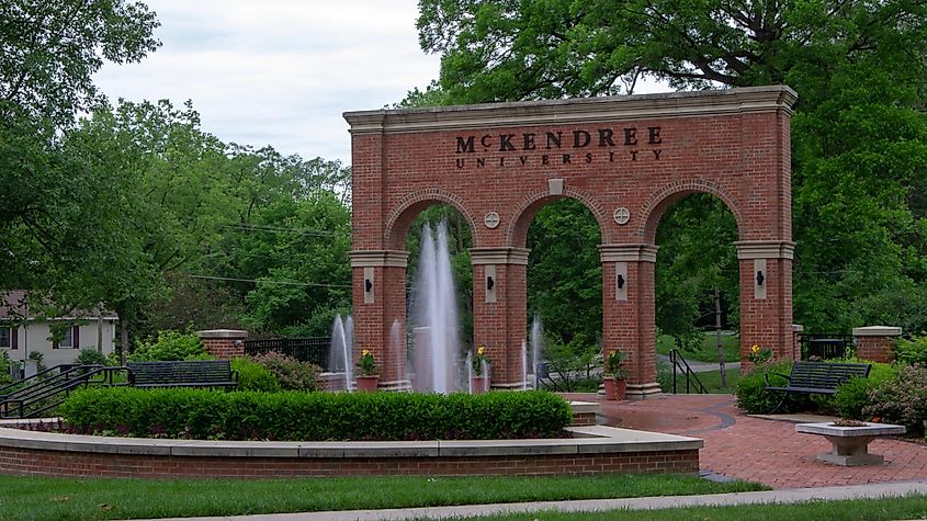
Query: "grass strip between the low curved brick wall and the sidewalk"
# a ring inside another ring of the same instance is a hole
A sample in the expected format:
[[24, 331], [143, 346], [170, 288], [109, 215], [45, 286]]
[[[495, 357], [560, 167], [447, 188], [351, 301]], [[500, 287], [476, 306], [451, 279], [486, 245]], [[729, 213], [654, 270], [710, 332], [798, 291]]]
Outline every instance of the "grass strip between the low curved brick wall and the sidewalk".
[[692, 476], [72, 479], [0, 476], [0, 519], [95, 520], [762, 490]]

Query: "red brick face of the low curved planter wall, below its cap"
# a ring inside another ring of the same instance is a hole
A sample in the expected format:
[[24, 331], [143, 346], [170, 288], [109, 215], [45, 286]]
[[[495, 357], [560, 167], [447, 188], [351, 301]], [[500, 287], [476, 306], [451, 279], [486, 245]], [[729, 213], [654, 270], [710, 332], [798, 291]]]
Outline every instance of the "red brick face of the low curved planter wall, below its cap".
[[201, 457], [0, 449], [0, 473], [82, 477], [593, 475], [699, 472], [699, 451], [481, 457]]

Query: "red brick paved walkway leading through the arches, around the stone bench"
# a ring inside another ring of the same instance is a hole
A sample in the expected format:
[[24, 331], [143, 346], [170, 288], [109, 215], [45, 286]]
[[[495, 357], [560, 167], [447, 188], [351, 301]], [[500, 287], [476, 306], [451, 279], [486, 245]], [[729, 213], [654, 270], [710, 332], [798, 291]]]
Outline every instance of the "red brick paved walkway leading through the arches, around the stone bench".
[[[595, 400], [593, 395], [573, 395]], [[773, 488], [859, 485], [927, 479], [927, 445], [900, 439], [875, 440], [869, 451], [880, 466], [843, 467], [818, 462], [830, 450], [823, 437], [800, 434], [795, 423], [751, 418], [734, 407], [730, 395], [669, 395], [643, 401], [604, 401], [606, 424], [691, 435], [705, 441], [702, 471], [759, 482]]]

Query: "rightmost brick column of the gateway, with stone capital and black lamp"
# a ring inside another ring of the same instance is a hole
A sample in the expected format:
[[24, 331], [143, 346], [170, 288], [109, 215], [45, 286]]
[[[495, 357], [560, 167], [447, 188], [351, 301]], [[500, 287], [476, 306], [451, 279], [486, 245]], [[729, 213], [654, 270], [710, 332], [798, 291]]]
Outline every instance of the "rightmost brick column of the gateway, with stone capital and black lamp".
[[741, 261], [741, 370], [749, 369], [750, 346], [794, 356], [792, 332], [792, 258], [795, 243], [787, 240], [737, 242]]

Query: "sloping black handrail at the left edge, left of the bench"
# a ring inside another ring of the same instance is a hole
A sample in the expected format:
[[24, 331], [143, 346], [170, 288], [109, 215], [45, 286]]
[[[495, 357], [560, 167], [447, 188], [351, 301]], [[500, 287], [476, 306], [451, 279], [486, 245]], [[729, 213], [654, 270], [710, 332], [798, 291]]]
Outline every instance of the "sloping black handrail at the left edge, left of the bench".
[[[58, 367], [56, 366], [54, 369]], [[77, 365], [69, 367], [57, 375], [48, 376], [45, 381], [18, 389], [11, 395], [0, 397], [0, 418], [30, 418], [37, 416], [63, 404], [67, 395], [80, 386], [87, 387], [91, 384], [109, 387], [127, 385], [115, 382], [115, 375], [122, 371], [128, 371], [128, 369], [124, 366], [103, 365]], [[56, 396], [61, 396], [61, 398], [57, 400], [52, 399]], [[47, 401], [49, 399], [52, 400]], [[26, 410], [29, 406], [35, 404], [41, 404], [42, 407]]]

